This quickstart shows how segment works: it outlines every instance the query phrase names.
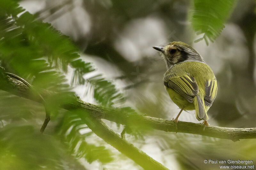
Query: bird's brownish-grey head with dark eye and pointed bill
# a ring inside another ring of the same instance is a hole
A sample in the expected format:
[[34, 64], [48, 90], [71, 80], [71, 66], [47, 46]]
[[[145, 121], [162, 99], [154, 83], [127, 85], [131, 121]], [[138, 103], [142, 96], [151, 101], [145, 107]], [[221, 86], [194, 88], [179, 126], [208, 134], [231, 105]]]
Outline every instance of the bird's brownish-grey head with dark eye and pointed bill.
[[185, 61], [198, 61], [204, 63], [201, 55], [184, 42], [173, 41], [165, 46], [153, 46], [153, 48], [161, 52], [163, 58], [166, 60], [167, 68]]

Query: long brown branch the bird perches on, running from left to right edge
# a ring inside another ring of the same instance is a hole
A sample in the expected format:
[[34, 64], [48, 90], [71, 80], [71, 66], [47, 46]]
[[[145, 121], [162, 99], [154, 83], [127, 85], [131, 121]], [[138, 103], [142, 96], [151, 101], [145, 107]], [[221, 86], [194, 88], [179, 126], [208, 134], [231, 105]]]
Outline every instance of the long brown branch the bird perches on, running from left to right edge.
[[[29, 95], [31, 93], [23, 83], [11, 78], [9, 80], [9, 86], [0, 85], [0, 89], [9, 91], [17, 96], [25, 97], [42, 103], [39, 96]], [[55, 92], [47, 91], [44, 89], [42, 89], [40, 93], [44, 98], [55, 94]], [[120, 109], [105, 108], [100, 105], [84, 102], [80, 99], [76, 99], [75, 102], [67, 103], [61, 107], [67, 110], [82, 109], [91, 113], [92, 116], [97, 119], [106, 119], [112, 122], [116, 122], [117, 124], [124, 124], [128, 126], [134, 126], [135, 122], [135, 124], [140, 127], [146, 126], [166, 132], [190, 133], [213, 138], [231, 139], [233, 141], [237, 141], [239, 139], [256, 138], [256, 128], [227, 128], [217, 126], [205, 127], [202, 124], [179, 121], [176, 130], [175, 123], [172, 120], [131, 115], [129, 113], [124, 113]]]

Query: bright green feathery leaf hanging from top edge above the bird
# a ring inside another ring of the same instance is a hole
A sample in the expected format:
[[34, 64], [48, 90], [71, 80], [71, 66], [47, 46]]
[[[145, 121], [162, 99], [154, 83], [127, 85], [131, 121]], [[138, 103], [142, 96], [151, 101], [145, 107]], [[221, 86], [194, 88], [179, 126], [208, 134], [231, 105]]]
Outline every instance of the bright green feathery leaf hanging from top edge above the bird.
[[[236, 0], [194, 0], [194, 9], [190, 22], [197, 35], [204, 34], [203, 39], [208, 45], [208, 39], [214, 41], [225, 28]], [[202, 40], [197, 39], [196, 42]]]

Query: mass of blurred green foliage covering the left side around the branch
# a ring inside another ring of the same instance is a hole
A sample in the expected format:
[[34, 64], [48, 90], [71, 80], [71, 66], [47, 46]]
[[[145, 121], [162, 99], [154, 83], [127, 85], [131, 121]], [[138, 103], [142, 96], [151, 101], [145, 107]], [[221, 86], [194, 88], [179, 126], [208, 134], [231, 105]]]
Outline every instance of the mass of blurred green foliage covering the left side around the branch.
[[[50, 24], [37, 20], [32, 14], [22, 13], [24, 9], [18, 6], [12, 0], [0, 2], [1, 66], [7, 72], [32, 81], [35, 88], [59, 92], [57, 96], [47, 99], [47, 102], [51, 104], [53, 120], [59, 118], [59, 124], [62, 125], [55, 130], [55, 133], [60, 134], [56, 136], [58, 138], [52, 136], [49, 140], [44, 139], [46, 137], [40, 136], [38, 131], [38, 125], [44, 120], [43, 107], [1, 92], [0, 133], [4, 138], [0, 142], [3, 151], [0, 169], [62, 169], [72, 166], [80, 169], [81, 165], [77, 160], [81, 158], [89, 163], [98, 160], [103, 164], [113, 160], [105, 146], [87, 144], [84, 141], [91, 133], [82, 135], [79, 129], [73, 128], [67, 134], [65, 130], [69, 131], [70, 127], [84, 123], [81, 119], [79, 121], [75, 113], [70, 116], [71, 113], [58, 108], [73, 100], [65, 77], [68, 67], [73, 70], [71, 83], [84, 84], [83, 75], [94, 70], [91, 64], [79, 59], [77, 47], [67, 36]], [[124, 96], [101, 75], [90, 78], [88, 82], [95, 87], [94, 97], [99, 103], [110, 107], [113, 101], [124, 101]], [[10, 106], [14, 101], [15, 107]], [[38, 122], [35, 124], [32, 120]], [[36, 130], [34, 125], [27, 125], [30, 123], [36, 125]], [[75, 162], [65, 160], [72, 154], [76, 155], [76, 159], [73, 159]]]

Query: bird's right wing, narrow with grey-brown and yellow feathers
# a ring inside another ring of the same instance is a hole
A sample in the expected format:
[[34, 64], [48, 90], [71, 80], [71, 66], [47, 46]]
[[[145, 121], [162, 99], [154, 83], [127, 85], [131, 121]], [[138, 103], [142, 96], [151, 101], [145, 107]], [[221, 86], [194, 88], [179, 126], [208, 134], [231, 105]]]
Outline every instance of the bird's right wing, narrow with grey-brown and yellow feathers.
[[216, 78], [206, 81], [204, 85], [204, 89], [205, 89], [204, 104], [205, 106], [211, 107], [214, 99], [216, 98], [217, 91], [218, 91]]

